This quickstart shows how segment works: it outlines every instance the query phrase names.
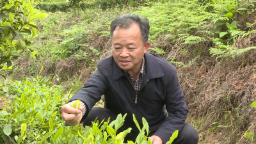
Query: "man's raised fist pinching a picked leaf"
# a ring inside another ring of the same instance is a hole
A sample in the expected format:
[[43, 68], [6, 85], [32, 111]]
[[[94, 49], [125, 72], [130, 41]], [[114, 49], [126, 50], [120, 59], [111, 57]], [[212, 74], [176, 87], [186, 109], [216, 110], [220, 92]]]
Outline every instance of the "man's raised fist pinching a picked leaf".
[[82, 106], [78, 109], [72, 108], [74, 102], [69, 102], [61, 106], [61, 117], [68, 125], [77, 125], [83, 117]]

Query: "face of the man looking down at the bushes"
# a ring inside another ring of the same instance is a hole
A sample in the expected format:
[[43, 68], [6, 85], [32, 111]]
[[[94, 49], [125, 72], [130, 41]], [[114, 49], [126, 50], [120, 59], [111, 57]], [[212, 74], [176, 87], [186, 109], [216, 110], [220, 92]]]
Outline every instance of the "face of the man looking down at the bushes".
[[140, 27], [132, 24], [131, 28], [116, 28], [113, 31], [113, 56], [117, 65], [130, 74], [138, 74], [144, 54], [147, 52], [149, 42], [143, 44]]

